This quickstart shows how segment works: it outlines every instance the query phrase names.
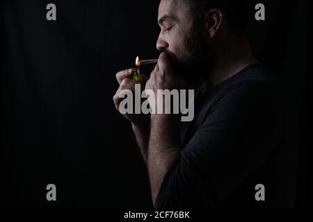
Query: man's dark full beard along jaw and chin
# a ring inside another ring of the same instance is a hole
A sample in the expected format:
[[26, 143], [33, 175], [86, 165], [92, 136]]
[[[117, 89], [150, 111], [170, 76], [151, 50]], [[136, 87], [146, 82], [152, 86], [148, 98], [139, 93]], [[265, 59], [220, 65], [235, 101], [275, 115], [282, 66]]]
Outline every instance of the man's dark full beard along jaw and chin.
[[207, 78], [214, 64], [214, 53], [202, 37], [200, 28], [194, 26], [191, 29], [182, 48], [179, 55], [166, 51], [175, 74], [182, 76], [187, 83], [198, 78]]

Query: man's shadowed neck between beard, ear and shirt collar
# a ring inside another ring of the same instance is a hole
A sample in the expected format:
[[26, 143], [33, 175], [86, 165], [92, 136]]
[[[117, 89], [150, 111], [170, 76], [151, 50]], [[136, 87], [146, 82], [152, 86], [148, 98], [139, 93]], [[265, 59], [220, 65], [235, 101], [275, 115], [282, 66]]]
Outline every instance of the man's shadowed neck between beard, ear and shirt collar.
[[216, 50], [216, 64], [207, 78], [209, 88], [222, 83], [237, 74], [239, 71], [252, 65], [257, 60], [252, 54], [246, 37], [232, 37], [229, 41], [223, 40]]

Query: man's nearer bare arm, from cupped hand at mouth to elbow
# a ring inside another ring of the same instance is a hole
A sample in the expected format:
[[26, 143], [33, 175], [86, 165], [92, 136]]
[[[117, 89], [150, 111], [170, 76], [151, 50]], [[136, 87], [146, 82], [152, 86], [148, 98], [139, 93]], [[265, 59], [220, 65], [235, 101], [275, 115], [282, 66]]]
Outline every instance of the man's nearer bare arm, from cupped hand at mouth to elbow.
[[[166, 53], [161, 53], [159, 62], [152, 71], [145, 89], [150, 89], [157, 95], [158, 89], [181, 89], [184, 86], [182, 78], [175, 76], [170, 67]], [[157, 98], [148, 98], [152, 110], [158, 110]], [[164, 113], [164, 112], [163, 112]], [[179, 130], [175, 114], [151, 114], [150, 139], [147, 148], [147, 168], [150, 177], [152, 200], [155, 202], [161, 184], [170, 169], [179, 160]]]

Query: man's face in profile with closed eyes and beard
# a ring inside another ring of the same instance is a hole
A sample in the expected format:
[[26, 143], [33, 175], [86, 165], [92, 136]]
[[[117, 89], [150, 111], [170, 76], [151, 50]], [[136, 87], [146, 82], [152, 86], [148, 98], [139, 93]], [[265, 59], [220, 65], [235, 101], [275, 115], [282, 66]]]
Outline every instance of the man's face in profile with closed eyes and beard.
[[201, 34], [200, 24], [193, 19], [188, 1], [161, 0], [158, 23], [161, 31], [157, 49], [166, 51], [175, 73], [186, 80], [204, 74], [199, 70], [207, 66], [212, 51]]

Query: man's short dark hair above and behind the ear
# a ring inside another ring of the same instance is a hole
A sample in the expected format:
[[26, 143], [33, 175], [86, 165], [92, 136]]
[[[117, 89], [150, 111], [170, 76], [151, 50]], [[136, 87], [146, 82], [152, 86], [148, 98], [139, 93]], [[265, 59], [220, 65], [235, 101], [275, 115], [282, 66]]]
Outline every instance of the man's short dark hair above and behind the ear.
[[187, 0], [195, 19], [201, 19], [207, 11], [218, 8], [236, 33], [245, 34], [251, 1], [249, 0]]

